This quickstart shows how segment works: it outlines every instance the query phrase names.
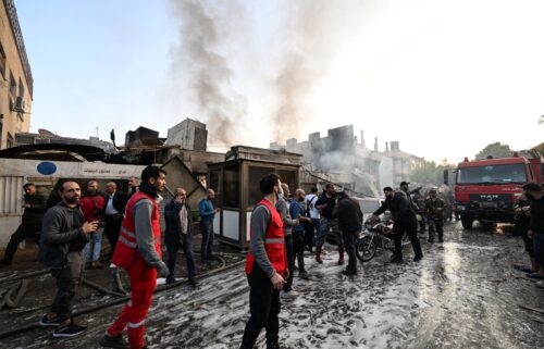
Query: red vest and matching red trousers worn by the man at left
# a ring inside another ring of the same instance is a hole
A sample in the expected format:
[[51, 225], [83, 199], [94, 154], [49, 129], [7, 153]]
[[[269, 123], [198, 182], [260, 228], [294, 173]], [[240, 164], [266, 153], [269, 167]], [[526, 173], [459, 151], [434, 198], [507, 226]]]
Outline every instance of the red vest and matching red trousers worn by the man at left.
[[159, 224], [159, 208], [151, 197], [141, 191], [137, 191], [131, 197], [126, 204], [125, 219], [121, 227], [112, 262], [123, 267], [131, 277], [132, 296], [128, 304], [123, 308], [113, 325], [108, 328], [110, 337], [122, 335], [125, 327], [128, 327], [128, 344], [131, 349], [144, 347], [145, 321], [153, 291], [157, 287], [157, 269], [148, 265], [144, 258], [136, 251], [136, 234], [133, 216], [133, 208], [139, 200], [148, 199], [152, 202], [151, 226], [153, 229], [154, 249], [159, 257], [161, 252], [161, 228]]

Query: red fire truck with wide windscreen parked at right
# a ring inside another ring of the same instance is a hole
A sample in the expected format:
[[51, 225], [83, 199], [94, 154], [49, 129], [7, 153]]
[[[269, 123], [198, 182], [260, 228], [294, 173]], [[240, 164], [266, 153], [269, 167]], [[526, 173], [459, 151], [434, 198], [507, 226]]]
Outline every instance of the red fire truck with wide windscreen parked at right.
[[465, 161], [457, 166], [455, 210], [462, 227], [514, 222], [514, 203], [529, 182], [542, 183], [543, 158], [534, 150], [514, 152], [510, 158]]

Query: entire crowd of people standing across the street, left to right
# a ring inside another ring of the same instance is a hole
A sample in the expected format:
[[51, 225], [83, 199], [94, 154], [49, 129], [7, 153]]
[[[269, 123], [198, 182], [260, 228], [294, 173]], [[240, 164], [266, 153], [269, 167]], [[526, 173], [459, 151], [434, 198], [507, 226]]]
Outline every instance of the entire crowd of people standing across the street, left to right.
[[[55, 187], [55, 202], [46, 200], [32, 183], [24, 185], [24, 214], [21, 226], [12, 235], [3, 264], [11, 264], [17, 246], [25, 238], [39, 234], [38, 260], [51, 270], [57, 281], [57, 296], [40, 325], [54, 327], [53, 337], [72, 337], [86, 327], [72, 319], [72, 302], [84, 269], [102, 269], [101, 238], [106, 235], [111, 247], [110, 269], [119, 277], [123, 269], [131, 279], [131, 301], [108, 328], [100, 345], [109, 348], [145, 348], [145, 320], [157, 277], [168, 284], [174, 277], [177, 252], [183, 249], [189, 285], [198, 281], [195, 263], [194, 217], [184, 188], [176, 188], [174, 197], [164, 205], [164, 236], [159, 223], [160, 192], [164, 189], [166, 173], [158, 166], [147, 166], [141, 182], [131, 178], [131, 191], [118, 191], [114, 182], [106, 184], [106, 192], [97, 180], [87, 183], [84, 194], [74, 180]], [[355, 245], [363, 228], [363, 213], [359, 202], [346, 191], [337, 191], [331, 183], [320, 194], [311, 188], [306, 195], [301, 188], [290, 188], [275, 174], [260, 182], [263, 198], [255, 205], [250, 219], [250, 249], [247, 254], [246, 274], [250, 286], [250, 317], [245, 327], [242, 349], [252, 348], [262, 328], [267, 331], [267, 348], [279, 348], [280, 295], [294, 297], [294, 275], [301, 279], [311, 275], [305, 267], [305, 251], [314, 252], [317, 264], [323, 263], [324, 245], [334, 240], [337, 264], [348, 262], [342, 273], [358, 273]], [[409, 191], [409, 183], [400, 183], [399, 190], [383, 188], [384, 200], [370, 220], [378, 220], [386, 211], [394, 222], [395, 249], [391, 262], [401, 263], [401, 238], [407, 235], [413, 249], [413, 260], [423, 258], [418, 238], [418, 214], [423, 215], [428, 241], [444, 241], [446, 202], [431, 188], [423, 198]], [[214, 207], [215, 192], [208, 189], [198, 203], [201, 227], [201, 263], [213, 259], [213, 219], [219, 212]], [[47, 201], [47, 202], [46, 202]], [[523, 195], [515, 205], [516, 234], [523, 238], [530, 265], [515, 265], [539, 279], [544, 287], [544, 190], [541, 185], [523, 186]], [[421, 220], [420, 220], [421, 222]], [[165, 245], [166, 262], [161, 244]], [[128, 342], [123, 338], [127, 329]]]

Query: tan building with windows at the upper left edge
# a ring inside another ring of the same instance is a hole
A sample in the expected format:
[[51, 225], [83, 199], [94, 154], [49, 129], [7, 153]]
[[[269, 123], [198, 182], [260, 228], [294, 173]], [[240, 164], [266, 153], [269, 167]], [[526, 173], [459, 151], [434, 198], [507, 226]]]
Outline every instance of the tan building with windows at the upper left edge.
[[0, 149], [30, 128], [33, 76], [13, 0], [0, 0]]

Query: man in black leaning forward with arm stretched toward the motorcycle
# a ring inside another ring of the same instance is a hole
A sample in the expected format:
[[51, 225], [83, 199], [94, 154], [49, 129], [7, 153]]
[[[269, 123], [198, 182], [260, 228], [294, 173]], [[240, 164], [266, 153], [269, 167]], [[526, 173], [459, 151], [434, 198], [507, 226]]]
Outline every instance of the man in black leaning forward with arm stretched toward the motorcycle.
[[403, 262], [403, 236], [405, 233], [411, 241], [411, 247], [416, 257], [415, 261], [419, 261], [423, 258], [423, 252], [421, 251], [421, 245], [418, 239], [418, 221], [416, 219], [416, 213], [410, 207], [406, 195], [403, 192], [395, 192], [392, 187], [383, 188], [383, 194], [385, 195], [385, 201], [383, 201], [380, 209], [378, 209], [372, 215], [374, 217], [384, 213], [386, 210], [391, 211], [392, 219], [394, 222], [394, 233], [395, 233], [395, 254], [391, 260], [393, 263]]

